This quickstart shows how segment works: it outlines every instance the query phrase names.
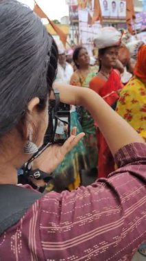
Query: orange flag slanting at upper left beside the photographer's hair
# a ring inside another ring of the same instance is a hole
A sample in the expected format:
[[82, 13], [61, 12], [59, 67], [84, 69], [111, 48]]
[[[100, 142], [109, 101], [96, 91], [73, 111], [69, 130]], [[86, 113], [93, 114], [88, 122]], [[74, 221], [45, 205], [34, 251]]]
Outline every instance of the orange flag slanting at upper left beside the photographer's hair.
[[49, 17], [45, 14], [45, 12], [42, 11], [42, 9], [39, 7], [39, 5], [37, 3], [34, 6], [34, 12], [36, 14], [38, 14], [38, 16], [40, 16], [40, 18], [46, 18], [49, 21], [50, 25], [53, 27], [53, 30], [55, 30], [56, 33], [58, 34], [58, 36], [60, 36], [60, 40], [62, 41], [62, 43], [65, 46], [66, 40], [67, 40], [66, 34], [64, 34], [64, 32], [62, 32], [62, 30], [60, 29], [60, 27], [58, 27], [58, 25], [56, 25], [56, 23], [53, 23], [53, 21], [51, 21], [49, 19]]

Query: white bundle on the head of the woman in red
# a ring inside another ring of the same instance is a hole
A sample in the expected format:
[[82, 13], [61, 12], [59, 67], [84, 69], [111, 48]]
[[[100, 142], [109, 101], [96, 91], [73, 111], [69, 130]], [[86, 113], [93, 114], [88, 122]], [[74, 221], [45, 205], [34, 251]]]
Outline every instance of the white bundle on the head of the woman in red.
[[95, 45], [98, 49], [121, 45], [122, 34], [114, 27], [103, 27], [99, 30]]

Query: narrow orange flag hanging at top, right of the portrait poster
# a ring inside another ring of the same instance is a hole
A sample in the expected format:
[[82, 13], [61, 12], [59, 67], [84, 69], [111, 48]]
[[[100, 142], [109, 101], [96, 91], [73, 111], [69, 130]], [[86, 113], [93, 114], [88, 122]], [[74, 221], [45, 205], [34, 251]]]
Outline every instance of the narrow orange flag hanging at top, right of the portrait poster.
[[126, 0], [126, 21], [127, 21], [127, 30], [132, 34], [132, 21], [136, 19], [134, 12], [134, 3], [133, 0]]

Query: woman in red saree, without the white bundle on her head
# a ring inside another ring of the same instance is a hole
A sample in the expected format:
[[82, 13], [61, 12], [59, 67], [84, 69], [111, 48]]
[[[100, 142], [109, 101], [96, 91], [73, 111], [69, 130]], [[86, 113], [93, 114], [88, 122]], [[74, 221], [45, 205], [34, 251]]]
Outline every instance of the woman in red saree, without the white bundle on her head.
[[[113, 109], [116, 108], [119, 91], [122, 88], [120, 73], [113, 69], [117, 65], [118, 51], [117, 46], [99, 49], [99, 72], [89, 84], [90, 89], [99, 93]], [[97, 126], [96, 123], [95, 125]], [[107, 177], [110, 172], [114, 171], [114, 159], [98, 126], [97, 142], [99, 147], [98, 177]]]

